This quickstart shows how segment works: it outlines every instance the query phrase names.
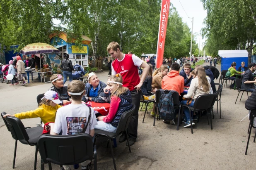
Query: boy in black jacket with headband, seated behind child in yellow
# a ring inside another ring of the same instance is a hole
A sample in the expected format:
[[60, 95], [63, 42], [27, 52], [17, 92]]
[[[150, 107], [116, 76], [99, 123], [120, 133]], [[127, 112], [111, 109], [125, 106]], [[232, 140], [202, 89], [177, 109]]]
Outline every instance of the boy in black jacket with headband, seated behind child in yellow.
[[53, 74], [50, 78], [53, 87], [49, 90], [57, 92], [60, 102], [59, 105], [68, 105], [70, 104], [70, 96], [68, 95], [68, 87], [63, 86], [63, 77], [60, 74]]

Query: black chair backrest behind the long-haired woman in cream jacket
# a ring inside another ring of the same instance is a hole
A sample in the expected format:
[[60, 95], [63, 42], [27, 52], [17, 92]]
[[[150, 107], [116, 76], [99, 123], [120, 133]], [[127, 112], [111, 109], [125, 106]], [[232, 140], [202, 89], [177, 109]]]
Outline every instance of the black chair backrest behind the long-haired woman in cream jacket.
[[200, 109], [200, 110], [209, 109], [214, 105], [216, 98], [217, 98], [216, 93], [202, 94], [196, 98], [193, 108]]

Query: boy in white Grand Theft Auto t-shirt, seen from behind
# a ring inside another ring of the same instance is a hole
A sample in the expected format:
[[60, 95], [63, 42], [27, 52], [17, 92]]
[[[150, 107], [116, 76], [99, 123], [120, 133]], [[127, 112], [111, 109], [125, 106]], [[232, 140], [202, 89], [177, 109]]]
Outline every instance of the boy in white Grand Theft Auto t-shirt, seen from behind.
[[[62, 130], [62, 135], [75, 135], [82, 133], [89, 118], [89, 107], [82, 104], [82, 96], [85, 95], [85, 84], [79, 80], [73, 80], [68, 85], [68, 95], [72, 98], [72, 103], [58, 109], [55, 123], [50, 123], [51, 135], [58, 135]], [[97, 125], [94, 110], [91, 108], [91, 118], [85, 133], [94, 136], [94, 126]], [[82, 170], [90, 169], [91, 161], [87, 160], [82, 164]], [[70, 170], [70, 165], [63, 165], [65, 170]]]

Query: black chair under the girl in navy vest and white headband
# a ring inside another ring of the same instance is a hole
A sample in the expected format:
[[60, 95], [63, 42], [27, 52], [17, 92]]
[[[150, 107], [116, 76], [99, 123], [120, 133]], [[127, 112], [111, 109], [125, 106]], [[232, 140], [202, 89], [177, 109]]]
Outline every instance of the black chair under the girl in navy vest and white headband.
[[[118, 126], [116, 128], [116, 133], [110, 133], [110, 132], [106, 132], [104, 130], [95, 129], [94, 145], [96, 143], [96, 140], [97, 140], [98, 136], [107, 137], [108, 138], [108, 140], [107, 140], [108, 141], [108, 145], [107, 146], [109, 146], [109, 141], [111, 141], [111, 139], [115, 139], [116, 137], [121, 135], [122, 132], [126, 132], [126, 138], [127, 138], [127, 142], [128, 142], [128, 147], [129, 147], [129, 151], [131, 152], [130, 144], [129, 144], [129, 140], [128, 140], [127, 128], [128, 128], [129, 123], [130, 123], [130, 120], [131, 120], [131, 118], [133, 116], [134, 109], [135, 109], [135, 105], [133, 105], [132, 109], [124, 112], [121, 115], [121, 118], [119, 120]], [[111, 154], [112, 154], [114, 168], [116, 170], [116, 162], [115, 162], [115, 157], [114, 157], [114, 152], [113, 152], [112, 144], [110, 144], [110, 149], [111, 149]]]

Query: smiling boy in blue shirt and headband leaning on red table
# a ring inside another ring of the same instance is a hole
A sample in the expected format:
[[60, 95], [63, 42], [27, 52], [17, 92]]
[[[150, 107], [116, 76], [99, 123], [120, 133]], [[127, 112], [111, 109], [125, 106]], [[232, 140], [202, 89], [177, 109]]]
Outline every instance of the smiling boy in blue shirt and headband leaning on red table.
[[109, 94], [104, 93], [106, 84], [99, 80], [98, 76], [92, 72], [87, 76], [89, 83], [85, 84], [85, 96], [82, 97], [83, 102], [91, 100], [97, 103], [109, 102]]

